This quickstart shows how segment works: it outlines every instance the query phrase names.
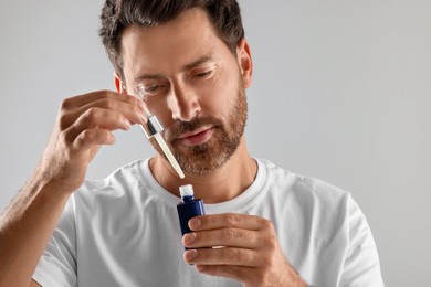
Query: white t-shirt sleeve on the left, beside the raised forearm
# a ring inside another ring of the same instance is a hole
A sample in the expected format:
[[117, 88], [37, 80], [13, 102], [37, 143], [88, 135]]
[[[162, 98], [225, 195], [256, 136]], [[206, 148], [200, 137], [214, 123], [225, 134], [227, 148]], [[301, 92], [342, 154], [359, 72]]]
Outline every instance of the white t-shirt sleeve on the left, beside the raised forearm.
[[73, 195], [42, 254], [33, 280], [43, 287], [77, 286], [76, 233]]

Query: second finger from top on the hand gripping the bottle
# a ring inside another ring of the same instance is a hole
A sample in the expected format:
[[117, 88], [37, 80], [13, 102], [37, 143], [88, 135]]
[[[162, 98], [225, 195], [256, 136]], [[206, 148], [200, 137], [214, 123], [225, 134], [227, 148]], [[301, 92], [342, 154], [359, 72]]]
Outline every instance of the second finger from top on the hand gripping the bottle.
[[187, 233], [182, 237], [182, 244], [188, 248], [210, 246], [256, 248], [260, 244], [260, 236], [256, 231], [231, 227]]

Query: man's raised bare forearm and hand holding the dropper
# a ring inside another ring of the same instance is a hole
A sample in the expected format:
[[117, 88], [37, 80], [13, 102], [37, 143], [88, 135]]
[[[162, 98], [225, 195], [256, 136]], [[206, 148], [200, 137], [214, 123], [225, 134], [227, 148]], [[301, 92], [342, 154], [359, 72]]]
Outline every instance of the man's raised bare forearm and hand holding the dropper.
[[[112, 131], [145, 124], [144, 103], [114, 92], [63, 102], [35, 172], [0, 216], [0, 286], [29, 286], [70, 194]], [[34, 283], [32, 283], [34, 286]]]

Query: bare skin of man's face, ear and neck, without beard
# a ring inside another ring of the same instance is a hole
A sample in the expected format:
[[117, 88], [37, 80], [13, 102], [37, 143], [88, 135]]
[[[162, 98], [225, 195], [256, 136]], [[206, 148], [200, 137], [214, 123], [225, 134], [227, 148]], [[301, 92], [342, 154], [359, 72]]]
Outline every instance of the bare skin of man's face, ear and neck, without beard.
[[[168, 134], [174, 121], [189, 121], [197, 115], [227, 120], [227, 111], [233, 106], [236, 96], [239, 61], [243, 62], [241, 67], [244, 87], [251, 85], [252, 64], [246, 42], [242, 42], [242, 47], [238, 49], [239, 56], [235, 57], [216, 36], [206, 14], [199, 12], [186, 12], [165, 25], [151, 29], [130, 26], [123, 34], [126, 83], [120, 83], [117, 78], [118, 85], [126, 88], [124, 93], [133, 94], [135, 78], [161, 75], [158, 84], [167, 82], [171, 92], [164, 96], [160, 104], [164, 108], [157, 109], [157, 117], [164, 123]], [[197, 29], [197, 21], [206, 23], [207, 29]], [[172, 46], [176, 49], [171, 49]], [[206, 64], [219, 66], [217, 78], [203, 85], [193, 83], [186, 75], [190, 71], [185, 71], [183, 67], [208, 55], [212, 55], [214, 60]], [[164, 157], [156, 155], [150, 161], [150, 168], [157, 181], [177, 195], [178, 187], [185, 184], [185, 181], [178, 178]], [[253, 182], [255, 174], [256, 163], [248, 153], [242, 137], [236, 152], [223, 167], [211, 174], [188, 173], [186, 178], [187, 182], [193, 184], [197, 198], [214, 203], [239, 195]], [[227, 178], [235, 180], [227, 181]]]

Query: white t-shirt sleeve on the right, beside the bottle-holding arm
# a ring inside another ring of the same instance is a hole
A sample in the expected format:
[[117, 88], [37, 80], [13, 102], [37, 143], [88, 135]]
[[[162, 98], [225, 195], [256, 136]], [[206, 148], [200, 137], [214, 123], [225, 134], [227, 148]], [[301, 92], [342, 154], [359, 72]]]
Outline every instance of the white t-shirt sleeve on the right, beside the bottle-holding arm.
[[348, 201], [348, 247], [339, 286], [385, 286], [371, 230], [351, 198]]

